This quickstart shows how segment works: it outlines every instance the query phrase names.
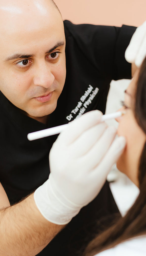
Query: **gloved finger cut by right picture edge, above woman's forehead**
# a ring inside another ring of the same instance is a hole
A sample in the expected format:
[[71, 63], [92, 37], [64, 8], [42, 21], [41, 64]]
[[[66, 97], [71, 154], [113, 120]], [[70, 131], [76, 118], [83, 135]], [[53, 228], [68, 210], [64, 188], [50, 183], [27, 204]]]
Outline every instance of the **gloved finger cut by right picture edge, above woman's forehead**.
[[139, 51], [136, 55], [135, 64], [137, 67], [141, 66], [142, 61], [144, 60], [145, 56], [146, 56], [146, 34], [142, 40], [142, 44], [141, 44]]

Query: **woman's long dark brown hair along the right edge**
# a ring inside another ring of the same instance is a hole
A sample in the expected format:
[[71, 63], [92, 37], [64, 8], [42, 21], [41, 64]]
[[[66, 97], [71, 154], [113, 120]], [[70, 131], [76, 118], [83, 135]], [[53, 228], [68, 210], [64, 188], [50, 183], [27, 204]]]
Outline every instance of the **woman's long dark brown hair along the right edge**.
[[[133, 109], [138, 125], [146, 134], [146, 58], [138, 74]], [[93, 256], [125, 240], [146, 234], [146, 143], [139, 161], [138, 180], [140, 193], [134, 205], [123, 218], [88, 244], [85, 256]]]

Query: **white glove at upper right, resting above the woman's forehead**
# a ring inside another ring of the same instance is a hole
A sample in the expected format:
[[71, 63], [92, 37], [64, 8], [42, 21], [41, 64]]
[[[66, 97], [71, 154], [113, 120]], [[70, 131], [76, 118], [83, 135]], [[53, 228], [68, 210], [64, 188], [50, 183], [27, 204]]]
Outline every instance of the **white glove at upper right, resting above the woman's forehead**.
[[125, 51], [125, 59], [140, 67], [146, 56], [146, 21], [136, 29]]

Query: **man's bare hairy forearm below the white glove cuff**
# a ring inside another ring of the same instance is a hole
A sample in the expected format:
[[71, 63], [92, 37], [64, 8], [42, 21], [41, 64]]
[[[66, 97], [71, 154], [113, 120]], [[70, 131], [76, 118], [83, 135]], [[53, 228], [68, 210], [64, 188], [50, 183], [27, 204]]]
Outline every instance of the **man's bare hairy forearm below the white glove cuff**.
[[32, 194], [18, 204], [0, 210], [0, 255], [36, 255], [63, 227], [41, 215]]

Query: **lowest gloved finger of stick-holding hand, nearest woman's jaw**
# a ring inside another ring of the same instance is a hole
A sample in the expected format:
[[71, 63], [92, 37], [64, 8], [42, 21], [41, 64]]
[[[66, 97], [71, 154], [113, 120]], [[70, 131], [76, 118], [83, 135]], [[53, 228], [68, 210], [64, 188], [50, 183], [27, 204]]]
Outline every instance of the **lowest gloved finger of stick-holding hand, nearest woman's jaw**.
[[[103, 176], [107, 176], [112, 166], [117, 162], [126, 146], [126, 139], [123, 136], [117, 137], [109, 148], [107, 154], [103, 157], [100, 164], [95, 168], [94, 172], [101, 172]], [[94, 172], [92, 173], [94, 175]], [[98, 176], [98, 173], [97, 173]]]

